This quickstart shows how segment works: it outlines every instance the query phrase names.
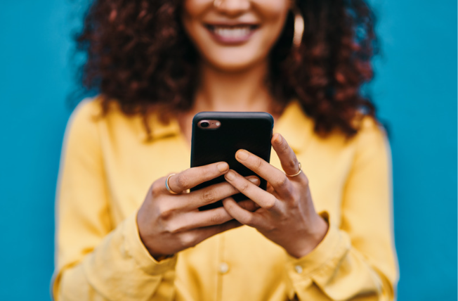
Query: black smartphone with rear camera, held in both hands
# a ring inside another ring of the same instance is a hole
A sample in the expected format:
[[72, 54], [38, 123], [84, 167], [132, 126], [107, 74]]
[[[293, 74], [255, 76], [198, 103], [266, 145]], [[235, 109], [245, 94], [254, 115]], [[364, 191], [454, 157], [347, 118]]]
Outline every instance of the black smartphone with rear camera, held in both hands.
[[[202, 112], [192, 119], [191, 167], [208, 165], [214, 162], [228, 162], [243, 177], [258, 174], [235, 160], [235, 153], [245, 149], [263, 160], [270, 162], [270, 140], [272, 139], [273, 117], [262, 112]], [[261, 180], [264, 190], [267, 181]], [[225, 181], [224, 176], [199, 184], [195, 191]], [[233, 196], [236, 201], [247, 199], [242, 193]], [[209, 210], [221, 207], [221, 200], [200, 207]]]

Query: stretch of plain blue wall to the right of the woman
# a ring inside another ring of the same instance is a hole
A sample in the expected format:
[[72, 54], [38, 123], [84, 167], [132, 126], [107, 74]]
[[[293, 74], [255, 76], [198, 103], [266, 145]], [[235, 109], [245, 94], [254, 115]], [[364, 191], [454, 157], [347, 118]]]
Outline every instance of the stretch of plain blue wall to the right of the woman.
[[374, 0], [391, 126], [399, 300], [457, 300], [457, 1]]

